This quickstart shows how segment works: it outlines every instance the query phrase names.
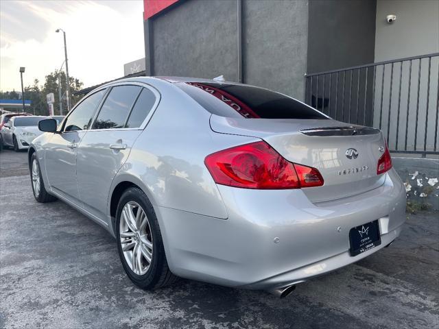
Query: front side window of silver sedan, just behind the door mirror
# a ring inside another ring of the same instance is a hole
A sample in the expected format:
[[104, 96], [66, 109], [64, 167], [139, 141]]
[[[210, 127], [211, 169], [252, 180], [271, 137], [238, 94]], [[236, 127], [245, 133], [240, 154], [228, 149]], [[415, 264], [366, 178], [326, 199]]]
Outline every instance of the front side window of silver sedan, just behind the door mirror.
[[86, 130], [91, 123], [91, 119], [93, 119], [93, 114], [99, 105], [99, 101], [104, 97], [105, 91], [105, 89], [100, 90], [84, 99], [67, 117], [64, 132]]

